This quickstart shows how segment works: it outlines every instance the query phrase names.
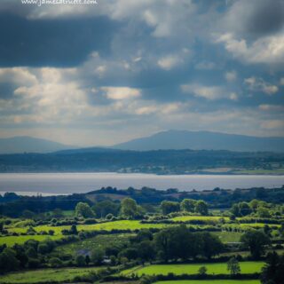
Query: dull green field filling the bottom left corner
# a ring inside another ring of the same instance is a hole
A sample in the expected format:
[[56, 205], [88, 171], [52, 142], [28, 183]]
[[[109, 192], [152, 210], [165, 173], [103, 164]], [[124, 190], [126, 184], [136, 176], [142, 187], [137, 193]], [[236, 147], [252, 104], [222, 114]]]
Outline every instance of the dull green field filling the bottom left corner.
[[89, 268], [61, 268], [61, 269], [39, 269], [27, 272], [13, 272], [1, 276], [1, 283], [49, 283], [52, 281], [71, 281], [75, 276], [88, 275], [103, 267]]

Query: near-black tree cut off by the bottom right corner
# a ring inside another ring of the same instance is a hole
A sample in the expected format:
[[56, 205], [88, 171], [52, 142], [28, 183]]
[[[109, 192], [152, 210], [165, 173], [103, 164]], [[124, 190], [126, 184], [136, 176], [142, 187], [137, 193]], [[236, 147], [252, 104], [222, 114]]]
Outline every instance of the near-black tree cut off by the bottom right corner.
[[278, 256], [273, 251], [267, 256], [266, 264], [262, 269], [261, 282], [263, 284], [283, 284], [283, 272], [284, 272], [284, 255]]

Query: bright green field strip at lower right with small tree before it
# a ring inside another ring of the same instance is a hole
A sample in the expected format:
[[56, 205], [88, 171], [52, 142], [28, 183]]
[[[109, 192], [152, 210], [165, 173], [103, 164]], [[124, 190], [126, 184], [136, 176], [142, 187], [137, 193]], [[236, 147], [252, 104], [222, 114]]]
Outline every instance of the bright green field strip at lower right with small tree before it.
[[[141, 276], [146, 275], [167, 275], [168, 273], [174, 273], [176, 275], [181, 274], [198, 274], [198, 270], [201, 266], [207, 268], [208, 274], [229, 274], [227, 271], [226, 263], [213, 263], [213, 264], [156, 264], [149, 266], [138, 266], [122, 272], [123, 275], [130, 275], [132, 273]], [[264, 262], [241, 262], [241, 273], [255, 273], [261, 272]]]

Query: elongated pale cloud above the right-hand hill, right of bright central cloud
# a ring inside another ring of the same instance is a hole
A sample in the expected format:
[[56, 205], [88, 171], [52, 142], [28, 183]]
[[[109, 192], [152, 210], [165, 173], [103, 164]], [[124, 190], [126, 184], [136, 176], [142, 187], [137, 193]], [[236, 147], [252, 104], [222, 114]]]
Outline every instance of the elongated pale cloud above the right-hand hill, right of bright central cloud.
[[220, 86], [202, 86], [200, 84], [184, 84], [181, 85], [184, 93], [193, 94], [195, 97], [201, 97], [209, 100], [231, 99], [236, 100], [237, 95], [233, 92], [227, 92]]

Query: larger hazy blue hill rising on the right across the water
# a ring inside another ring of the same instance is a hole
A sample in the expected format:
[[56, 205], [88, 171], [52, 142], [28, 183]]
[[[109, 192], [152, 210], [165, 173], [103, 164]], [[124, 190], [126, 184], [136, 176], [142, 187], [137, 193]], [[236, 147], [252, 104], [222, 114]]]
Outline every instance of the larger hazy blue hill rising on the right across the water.
[[150, 137], [130, 140], [129, 142], [114, 145], [113, 147], [142, 151], [158, 149], [204, 149], [284, 153], [284, 138], [257, 138], [209, 131], [169, 130], [159, 132]]

